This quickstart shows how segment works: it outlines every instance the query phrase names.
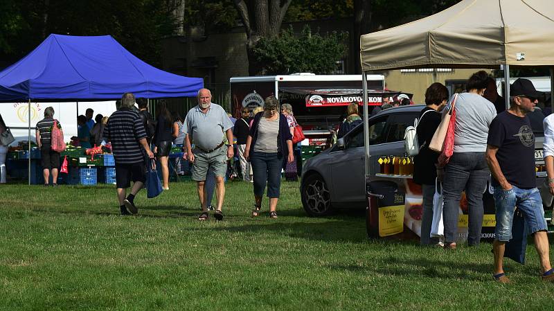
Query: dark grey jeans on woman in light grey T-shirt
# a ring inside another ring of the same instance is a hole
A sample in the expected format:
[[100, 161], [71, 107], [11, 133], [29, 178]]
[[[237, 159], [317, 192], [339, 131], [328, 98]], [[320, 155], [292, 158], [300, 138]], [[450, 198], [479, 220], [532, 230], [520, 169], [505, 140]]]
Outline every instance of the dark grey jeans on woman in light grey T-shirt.
[[483, 193], [490, 176], [485, 152], [455, 152], [445, 167], [443, 222], [445, 242], [456, 242], [461, 193], [469, 208], [467, 244], [479, 245], [483, 228]]

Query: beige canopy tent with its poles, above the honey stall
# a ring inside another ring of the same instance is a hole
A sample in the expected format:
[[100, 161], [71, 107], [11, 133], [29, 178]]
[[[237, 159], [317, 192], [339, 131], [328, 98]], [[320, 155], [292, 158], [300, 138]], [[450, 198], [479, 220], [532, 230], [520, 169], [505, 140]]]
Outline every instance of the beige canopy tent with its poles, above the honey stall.
[[[505, 80], [510, 81], [510, 65], [554, 66], [554, 1], [463, 0], [424, 19], [362, 35], [360, 60], [363, 77], [383, 69], [503, 65]], [[507, 101], [509, 96], [506, 88]], [[367, 116], [366, 102], [364, 98]], [[367, 122], [364, 136], [367, 175]]]

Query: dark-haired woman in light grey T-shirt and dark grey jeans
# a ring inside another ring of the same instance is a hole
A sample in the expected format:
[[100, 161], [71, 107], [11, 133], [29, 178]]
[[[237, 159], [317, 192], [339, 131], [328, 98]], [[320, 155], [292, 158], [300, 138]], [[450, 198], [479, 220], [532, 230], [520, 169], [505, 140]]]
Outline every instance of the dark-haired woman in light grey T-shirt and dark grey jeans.
[[[485, 151], [489, 125], [497, 116], [494, 105], [483, 97], [488, 84], [488, 74], [478, 71], [467, 80], [467, 91], [458, 94], [456, 127], [454, 130], [454, 154], [444, 168], [443, 222], [445, 248], [456, 248], [461, 193], [465, 189], [468, 208], [467, 244], [477, 246], [483, 226], [483, 193], [490, 177]], [[447, 113], [452, 100], [443, 110]], [[443, 175], [443, 168], [437, 168]]]

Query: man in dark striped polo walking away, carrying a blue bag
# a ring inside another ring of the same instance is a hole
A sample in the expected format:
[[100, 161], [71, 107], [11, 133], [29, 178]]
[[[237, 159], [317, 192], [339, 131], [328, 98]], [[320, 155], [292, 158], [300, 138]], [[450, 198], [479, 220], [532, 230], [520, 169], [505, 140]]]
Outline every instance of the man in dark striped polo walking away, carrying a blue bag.
[[[150, 159], [154, 159], [154, 154], [146, 142], [141, 116], [132, 109], [134, 102], [132, 93], [123, 94], [120, 108], [109, 116], [104, 129], [104, 137], [111, 142], [111, 150], [116, 161], [116, 188], [121, 215], [139, 212], [133, 200], [136, 193], [143, 188], [146, 179], [143, 150]], [[131, 193], [125, 197], [131, 181]]]

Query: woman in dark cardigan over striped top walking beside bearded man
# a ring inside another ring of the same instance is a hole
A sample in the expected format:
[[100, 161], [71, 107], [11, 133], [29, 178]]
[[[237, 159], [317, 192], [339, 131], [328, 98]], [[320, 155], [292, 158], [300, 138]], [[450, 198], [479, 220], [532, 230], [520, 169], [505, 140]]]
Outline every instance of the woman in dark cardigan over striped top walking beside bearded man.
[[262, 195], [267, 184], [269, 217], [277, 218], [277, 201], [281, 182], [283, 161], [292, 162], [292, 135], [287, 118], [279, 113], [279, 102], [274, 96], [265, 99], [264, 111], [254, 116], [247, 138], [244, 157], [250, 161], [254, 181], [254, 210], [252, 216], [260, 215]]

